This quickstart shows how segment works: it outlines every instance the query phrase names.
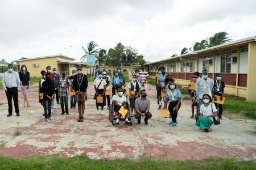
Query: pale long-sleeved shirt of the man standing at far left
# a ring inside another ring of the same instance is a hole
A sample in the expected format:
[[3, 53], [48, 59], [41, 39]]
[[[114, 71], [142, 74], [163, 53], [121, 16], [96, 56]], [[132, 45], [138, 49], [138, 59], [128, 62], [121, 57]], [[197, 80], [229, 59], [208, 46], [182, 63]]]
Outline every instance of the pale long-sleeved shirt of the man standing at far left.
[[20, 87], [20, 80], [19, 80], [19, 74], [16, 71], [6, 71], [5, 74], [3, 74], [3, 90], [7, 90], [6, 87], [12, 88], [12, 87]]

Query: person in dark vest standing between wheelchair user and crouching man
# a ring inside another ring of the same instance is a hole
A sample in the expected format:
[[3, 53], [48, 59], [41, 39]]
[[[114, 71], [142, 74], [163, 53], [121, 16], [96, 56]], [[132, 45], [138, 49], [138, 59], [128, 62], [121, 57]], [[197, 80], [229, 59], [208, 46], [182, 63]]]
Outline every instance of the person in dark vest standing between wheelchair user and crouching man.
[[131, 114], [135, 114], [135, 100], [139, 97], [139, 91], [141, 91], [141, 84], [136, 80], [136, 75], [133, 75], [131, 82], [128, 84], [129, 87], [129, 99], [131, 106]]

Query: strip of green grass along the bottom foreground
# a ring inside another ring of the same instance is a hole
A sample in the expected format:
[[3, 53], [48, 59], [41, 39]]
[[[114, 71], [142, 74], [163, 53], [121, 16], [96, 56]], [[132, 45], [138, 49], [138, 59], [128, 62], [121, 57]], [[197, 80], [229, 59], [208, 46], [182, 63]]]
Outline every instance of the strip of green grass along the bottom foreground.
[[236, 162], [233, 159], [170, 160], [119, 159], [92, 160], [86, 156], [61, 158], [59, 156], [35, 156], [30, 158], [0, 157], [1, 169], [255, 169], [252, 161]]

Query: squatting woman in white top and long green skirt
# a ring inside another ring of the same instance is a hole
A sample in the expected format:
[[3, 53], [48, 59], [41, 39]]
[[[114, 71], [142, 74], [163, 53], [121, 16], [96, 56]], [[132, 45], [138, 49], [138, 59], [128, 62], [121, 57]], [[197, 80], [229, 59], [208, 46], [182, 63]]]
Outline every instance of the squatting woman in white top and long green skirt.
[[217, 116], [217, 109], [212, 103], [212, 97], [208, 94], [203, 95], [204, 104], [200, 106], [200, 116], [196, 121], [196, 126], [200, 129], [204, 129], [205, 132], [212, 131], [213, 117]]

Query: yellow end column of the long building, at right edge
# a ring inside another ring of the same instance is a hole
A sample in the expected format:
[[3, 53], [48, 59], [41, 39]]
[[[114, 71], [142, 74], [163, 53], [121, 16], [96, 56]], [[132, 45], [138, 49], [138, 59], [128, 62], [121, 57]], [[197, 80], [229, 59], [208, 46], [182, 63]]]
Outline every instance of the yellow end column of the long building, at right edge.
[[247, 101], [256, 101], [256, 42], [250, 42], [248, 45], [248, 68], [247, 68]]

